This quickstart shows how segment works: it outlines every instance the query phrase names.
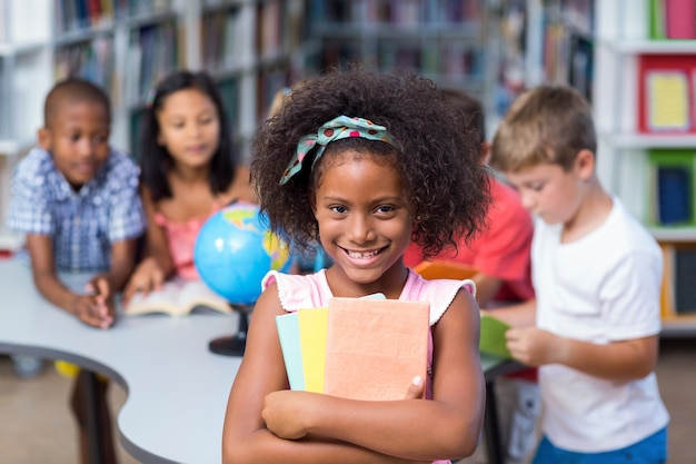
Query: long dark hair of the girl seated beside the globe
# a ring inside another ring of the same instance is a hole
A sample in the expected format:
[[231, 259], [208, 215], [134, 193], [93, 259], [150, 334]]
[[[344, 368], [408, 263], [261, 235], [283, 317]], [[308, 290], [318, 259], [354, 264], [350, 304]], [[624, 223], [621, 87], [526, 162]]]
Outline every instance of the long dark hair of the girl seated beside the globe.
[[235, 178], [237, 155], [233, 150], [231, 128], [228, 122], [220, 92], [212, 78], [205, 71], [176, 71], [166, 77], [150, 96], [145, 113], [140, 136], [140, 176], [143, 184], [150, 189], [152, 200], [171, 198], [171, 187], [167, 171], [172, 158], [167, 148], [158, 144], [160, 132], [158, 111], [165, 105], [167, 97], [185, 89], [197, 89], [208, 96], [217, 110], [220, 121], [220, 141], [211, 159], [209, 184], [213, 194], [226, 191]]

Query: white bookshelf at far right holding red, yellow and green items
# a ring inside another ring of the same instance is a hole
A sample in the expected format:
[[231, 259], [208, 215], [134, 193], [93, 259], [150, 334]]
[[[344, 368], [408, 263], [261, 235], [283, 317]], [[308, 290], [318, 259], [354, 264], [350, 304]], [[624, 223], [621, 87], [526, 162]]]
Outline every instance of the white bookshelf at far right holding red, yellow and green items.
[[664, 335], [693, 336], [696, 40], [666, 38], [654, 10], [663, 2], [595, 1], [598, 171], [663, 247]]

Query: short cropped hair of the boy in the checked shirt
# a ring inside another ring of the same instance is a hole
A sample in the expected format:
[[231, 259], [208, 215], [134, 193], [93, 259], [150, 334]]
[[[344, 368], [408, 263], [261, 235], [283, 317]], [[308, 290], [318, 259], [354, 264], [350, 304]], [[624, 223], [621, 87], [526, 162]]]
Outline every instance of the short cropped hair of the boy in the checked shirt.
[[43, 102], [43, 126], [50, 127], [64, 103], [95, 102], [102, 105], [111, 121], [111, 101], [107, 92], [96, 83], [79, 77], [69, 77], [56, 82]]

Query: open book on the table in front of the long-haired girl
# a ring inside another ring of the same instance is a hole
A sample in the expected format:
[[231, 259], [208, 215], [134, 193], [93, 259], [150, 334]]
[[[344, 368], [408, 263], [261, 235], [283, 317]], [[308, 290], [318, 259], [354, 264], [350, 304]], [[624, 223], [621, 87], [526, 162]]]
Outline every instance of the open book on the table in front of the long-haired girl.
[[167, 314], [186, 316], [197, 313], [231, 314], [232, 306], [220, 295], [212, 292], [201, 280], [167, 280], [160, 290], [150, 292], [147, 296], [133, 295], [123, 314]]

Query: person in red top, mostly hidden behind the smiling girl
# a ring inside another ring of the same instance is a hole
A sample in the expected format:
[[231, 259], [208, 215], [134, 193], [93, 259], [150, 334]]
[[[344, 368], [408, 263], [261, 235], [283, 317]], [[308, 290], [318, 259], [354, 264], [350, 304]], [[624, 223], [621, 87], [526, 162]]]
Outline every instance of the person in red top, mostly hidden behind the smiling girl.
[[[481, 164], [487, 165], [490, 145], [486, 141], [485, 116], [481, 103], [458, 89], [439, 91], [459, 108], [463, 130], [478, 137]], [[481, 308], [527, 302], [535, 298], [531, 285], [531, 237], [534, 221], [521, 204], [517, 190], [498, 179], [491, 170], [487, 228], [457, 248], [445, 248], [432, 260], [455, 261], [476, 269], [476, 300]], [[422, 261], [422, 250], [414, 243], [404, 255], [408, 267]], [[536, 368], [526, 368], [496, 381], [496, 399], [500, 422], [500, 441], [505, 446], [505, 463], [528, 462], [537, 444], [537, 422], [540, 415], [540, 393]]]

